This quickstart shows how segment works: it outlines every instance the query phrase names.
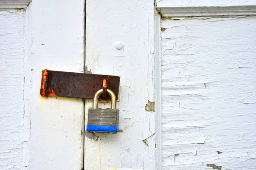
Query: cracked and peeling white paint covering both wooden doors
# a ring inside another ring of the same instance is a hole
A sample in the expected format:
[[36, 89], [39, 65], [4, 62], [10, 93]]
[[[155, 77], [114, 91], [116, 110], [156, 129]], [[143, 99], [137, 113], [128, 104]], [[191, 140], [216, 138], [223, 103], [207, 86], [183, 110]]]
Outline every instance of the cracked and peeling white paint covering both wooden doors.
[[[255, 1], [157, 0], [161, 23], [153, 1], [86, 3], [85, 69], [84, 1], [0, 10], [0, 169], [256, 169]], [[83, 146], [92, 101], [84, 118], [81, 99], [39, 96], [44, 68], [119, 75], [119, 133]]]

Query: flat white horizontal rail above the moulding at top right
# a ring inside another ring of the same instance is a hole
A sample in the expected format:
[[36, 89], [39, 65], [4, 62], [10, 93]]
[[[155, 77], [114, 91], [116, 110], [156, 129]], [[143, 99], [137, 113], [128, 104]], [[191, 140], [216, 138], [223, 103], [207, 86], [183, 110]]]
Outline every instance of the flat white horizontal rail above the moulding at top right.
[[198, 7], [198, 6], [250, 6], [255, 0], [156, 0], [157, 8], [161, 7]]

